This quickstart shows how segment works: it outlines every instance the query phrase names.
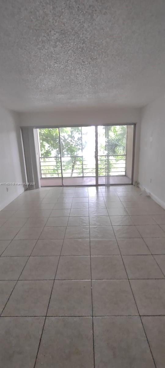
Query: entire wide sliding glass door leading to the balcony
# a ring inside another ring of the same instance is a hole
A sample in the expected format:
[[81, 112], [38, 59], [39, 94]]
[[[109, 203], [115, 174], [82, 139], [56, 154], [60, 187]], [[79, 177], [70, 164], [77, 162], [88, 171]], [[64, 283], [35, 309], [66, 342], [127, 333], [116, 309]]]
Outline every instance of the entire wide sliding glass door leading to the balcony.
[[38, 129], [41, 186], [131, 184], [135, 126]]

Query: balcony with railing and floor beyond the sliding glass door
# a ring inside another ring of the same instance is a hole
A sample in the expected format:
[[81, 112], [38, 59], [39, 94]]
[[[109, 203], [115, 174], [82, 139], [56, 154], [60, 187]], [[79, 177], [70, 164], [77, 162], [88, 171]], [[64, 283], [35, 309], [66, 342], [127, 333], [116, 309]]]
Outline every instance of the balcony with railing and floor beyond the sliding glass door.
[[[95, 158], [84, 159], [83, 156], [40, 157], [41, 185], [60, 185], [61, 178], [65, 185], [88, 185], [96, 183]], [[109, 175], [111, 184], [125, 184], [126, 155], [99, 155], [98, 181], [106, 184]], [[59, 183], [59, 184], [58, 184]]]

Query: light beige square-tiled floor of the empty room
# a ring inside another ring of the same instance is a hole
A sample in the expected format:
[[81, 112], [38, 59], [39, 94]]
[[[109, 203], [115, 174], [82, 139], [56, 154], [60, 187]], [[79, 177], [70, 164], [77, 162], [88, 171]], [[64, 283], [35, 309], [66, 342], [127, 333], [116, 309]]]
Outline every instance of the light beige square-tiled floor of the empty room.
[[0, 212], [3, 368], [164, 368], [165, 210], [138, 188], [26, 191]]

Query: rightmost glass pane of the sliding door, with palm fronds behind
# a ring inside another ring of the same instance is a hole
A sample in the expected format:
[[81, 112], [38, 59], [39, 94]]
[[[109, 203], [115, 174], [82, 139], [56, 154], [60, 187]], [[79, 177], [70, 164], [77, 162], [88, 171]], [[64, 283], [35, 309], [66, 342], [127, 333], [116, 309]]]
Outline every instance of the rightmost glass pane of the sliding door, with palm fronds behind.
[[133, 125], [98, 127], [99, 184], [131, 184]]

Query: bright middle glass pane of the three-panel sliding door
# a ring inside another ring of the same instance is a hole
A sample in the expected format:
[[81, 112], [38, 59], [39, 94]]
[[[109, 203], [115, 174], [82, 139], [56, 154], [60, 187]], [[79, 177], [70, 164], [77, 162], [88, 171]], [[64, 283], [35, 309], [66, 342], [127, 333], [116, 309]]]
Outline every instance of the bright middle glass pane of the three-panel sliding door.
[[95, 184], [95, 127], [60, 128], [64, 185]]

